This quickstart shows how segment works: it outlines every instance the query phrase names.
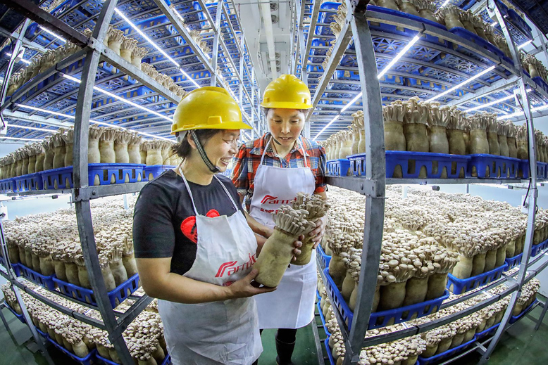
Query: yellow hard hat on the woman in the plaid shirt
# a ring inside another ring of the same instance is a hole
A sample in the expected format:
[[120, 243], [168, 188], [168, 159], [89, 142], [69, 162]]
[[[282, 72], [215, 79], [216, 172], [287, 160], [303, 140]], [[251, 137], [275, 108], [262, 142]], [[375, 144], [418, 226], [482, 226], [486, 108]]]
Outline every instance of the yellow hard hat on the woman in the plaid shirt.
[[264, 108], [311, 109], [310, 90], [295, 75], [282, 75], [266, 87], [263, 95]]

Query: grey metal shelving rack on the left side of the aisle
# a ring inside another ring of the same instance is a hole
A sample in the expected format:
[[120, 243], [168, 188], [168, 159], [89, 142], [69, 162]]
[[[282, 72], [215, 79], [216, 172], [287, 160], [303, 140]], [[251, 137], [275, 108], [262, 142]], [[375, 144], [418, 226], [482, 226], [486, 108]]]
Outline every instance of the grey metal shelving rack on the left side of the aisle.
[[[126, 35], [137, 39], [138, 46], [149, 50], [145, 60], [148, 59], [149, 63], [154, 64], [159, 72], [174, 77], [176, 83], [187, 91], [210, 85], [225, 87], [235, 100], [239, 101], [244, 120], [254, 127], [247, 139], [254, 138], [254, 134], [259, 135], [263, 129], [258, 103], [255, 102], [259, 98], [259, 87], [236, 6], [233, 0], [222, 0], [207, 5], [204, 0], [141, 0], [138, 4], [129, 0], [68, 0], [52, 13], [48, 13], [29, 0], [1, 0], [0, 4], [27, 18], [23, 28], [17, 33], [18, 37], [8, 63], [0, 58], [0, 70], [4, 71], [5, 80], [9, 79], [14, 69], [15, 57], [21, 46], [26, 47], [23, 59], [27, 62], [40, 51], [63, 44], [58, 37], [72, 41], [82, 48], [39, 73], [7, 101], [4, 96], [8, 82], [4, 82], [0, 110], [4, 120], [10, 125], [7, 137], [13, 140], [39, 140], [49, 133], [56, 132], [58, 127], [74, 126], [74, 188], [10, 195], [16, 198], [27, 195], [71, 194], [71, 201], [75, 204], [82, 252], [90, 273], [92, 289], [96, 293], [97, 307], [93, 308], [99, 310], [102, 321], [73, 312], [36, 293], [25, 286], [23, 281], [15, 278], [9, 264], [4, 234], [2, 250], [8, 264], [7, 271], [0, 271], [0, 274], [11, 282], [27, 324], [32, 324], [32, 321], [18, 290], [25, 291], [68, 316], [104, 329], [108, 332], [108, 339], [115, 347], [123, 365], [132, 365], [134, 361], [127, 350], [122, 333], [147, 307], [152, 298], [147, 295], [133, 295], [135, 303], [130, 309], [123, 314], [113, 311], [99, 268], [90, 200], [135, 193], [140, 191], [146, 182], [89, 186], [86, 153], [88, 128], [90, 122], [99, 122], [103, 125], [132, 129], [147, 137], [168, 139], [170, 118], [180, 97], [104, 46], [103, 39], [109, 24], [126, 30]], [[31, 20], [35, 23], [31, 23]], [[36, 27], [37, 25], [42, 28]], [[30, 27], [35, 27], [34, 32], [29, 31]], [[82, 34], [86, 27], [93, 30], [89, 39]], [[212, 49], [211, 56], [204, 53], [192, 39], [192, 30], [203, 32], [204, 40]], [[32, 35], [29, 39], [23, 37], [25, 34]], [[15, 33], [11, 34], [11, 37], [14, 35]], [[69, 65], [72, 65], [70, 69]], [[219, 72], [215, 72], [216, 70]], [[44, 82], [45, 80], [47, 82]], [[136, 90], [139, 91], [137, 96], [131, 94]], [[113, 98], [107, 102], [103, 91], [117, 94], [120, 98]], [[130, 108], [127, 108], [127, 101], [132, 103]], [[39, 130], [33, 129], [37, 127]], [[3, 136], [0, 136], [0, 141], [2, 139]], [[73, 300], [56, 291], [52, 293]], [[85, 305], [82, 302], [77, 303]], [[30, 329], [41, 350], [48, 357], [35, 328], [30, 325]], [[49, 361], [53, 364], [51, 359]]]

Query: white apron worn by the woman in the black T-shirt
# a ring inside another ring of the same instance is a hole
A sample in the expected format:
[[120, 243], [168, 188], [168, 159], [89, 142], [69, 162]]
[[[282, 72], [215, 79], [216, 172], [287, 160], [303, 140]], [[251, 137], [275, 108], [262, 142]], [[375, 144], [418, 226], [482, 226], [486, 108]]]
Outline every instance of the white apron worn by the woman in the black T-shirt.
[[[218, 286], [243, 278], [256, 261], [257, 241], [224, 184], [235, 213], [199, 215], [187, 180], [179, 169], [196, 214], [196, 260], [184, 276]], [[253, 298], [182, 304], [158, 300], [168, 352], [174, 365], [249, 365], [263, 351]]]

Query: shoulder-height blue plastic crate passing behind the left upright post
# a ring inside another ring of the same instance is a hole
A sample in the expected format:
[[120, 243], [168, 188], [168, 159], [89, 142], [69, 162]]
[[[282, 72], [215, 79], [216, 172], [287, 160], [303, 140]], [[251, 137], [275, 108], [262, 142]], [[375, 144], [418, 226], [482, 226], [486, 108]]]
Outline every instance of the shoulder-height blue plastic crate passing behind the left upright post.
[[[134, 183], [143, 180], [144, 164], [90, 163], [87, 178], [90, 186]], [[73, 167], [60, 167], [39, 172], [44, 189], [73, 188]]]

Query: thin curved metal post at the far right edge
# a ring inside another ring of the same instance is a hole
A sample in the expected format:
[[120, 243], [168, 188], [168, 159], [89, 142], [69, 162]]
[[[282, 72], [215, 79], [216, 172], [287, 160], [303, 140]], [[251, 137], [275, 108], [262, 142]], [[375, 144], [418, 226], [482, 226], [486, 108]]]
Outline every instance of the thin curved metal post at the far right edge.
[[521, 66], [521, 60], [519, 58], [518, 49], [516, 48], [516, 44], [513, 43], [513, 40], [508, 31], [508, 28], [506, 27], [506, 20], [502, 17], [502, 13], [500, 12], [499, 7], [495, 1], [493, 0], [489, 1], [489, 4], [487, 5], [487, 11], [490, 13], [490, 15], [494, 14], [497, 17], [497, 20], [499, 21], [499, 25], [502, 28], [502, 32], [504, 34], [506, 42], [509, 45], [510, 52], [513, 58], [513, 63], [514, 65], [516, 65], [516, 68], [518, 68], [521, 74], [521, 77], [518, 80], [520, 94], [517, 94], [516, 98], [517, 98], [517, 101], [521, 102], [521, 105], [523, 107], [523, 113], [525, 113], [525, 119], [528, 121], [526, 125], [528, 127], [528, 139], [529, 139], [528, 152], [529, 152], [529, 169], [530, 169], [530, 180], [529, 180], [530, 189], [528, 191], [529, 205], [528, 205], [527, 232], [525, 233], [525, 245], [523, 247], [523, 257], [521, 259], [521, 264], [520, 264], [519, 274], [517, 279], [518, 290], [512, 294], [509, 305], [506, 308], [506, 312], [504, 313], [504, 317], [501, 321], [501, 325], [499, 326], [499, 328], [497, 328], [497, 332], [494, 334], [494, 337], [491, 340], [489, 347], [487, 347], [487, 350], [485, 350], [485, 352], [482, 354], [482, 358], [480, 359], [478, 363], [480, 365], [487, 363], [487, 361], [489, 360], [489, 357], [494, 351], [494, 348], [497, 346], [502, 333], [504, 332], [504, 330], [506, 329], [506, 326], [508, 325], [508, 321], [510, 319], [513, 307], [516, 305], [516, 301], [518, 300], [518, 297], [521, 295], [521, 288], [523, 286], [523, 283], [525, 283], [525, 277], [527, 276], [527, 268], [529, 265], [529, 259], [531, 255], [531, 245], [533, 245], [533, 231], [535, 229], [535, 210], [537, 208], [537, 196], [538, 196], [535, 127], [533, 125], [533, 117], [531, 115], [528, 94], [525, 91], [525, 82], [523, 82], [523, 68]]

